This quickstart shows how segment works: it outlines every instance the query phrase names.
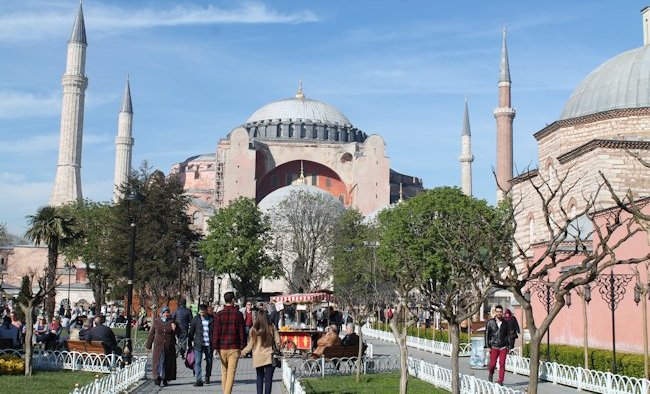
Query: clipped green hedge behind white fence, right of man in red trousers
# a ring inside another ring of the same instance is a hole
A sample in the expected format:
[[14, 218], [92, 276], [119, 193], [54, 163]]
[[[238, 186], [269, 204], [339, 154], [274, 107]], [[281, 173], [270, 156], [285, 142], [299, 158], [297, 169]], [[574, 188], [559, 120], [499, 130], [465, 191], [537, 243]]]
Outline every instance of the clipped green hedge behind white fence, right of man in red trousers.
[[[604, 349], [589, 349], [589, 369], [611, 372], [612, 352]], [[530, 344], [524, 348], [524, 356], [530, 355]], [[546, 344], [539, 351], [540, 359], [546, 359]], [[584, 367], [584, 349], [580, 346], [551, 345], [551, 361], [574, 367]], [[643, 378], [643, 355], [633, 353], [616, 353], [616, 366], [619, 375]]]

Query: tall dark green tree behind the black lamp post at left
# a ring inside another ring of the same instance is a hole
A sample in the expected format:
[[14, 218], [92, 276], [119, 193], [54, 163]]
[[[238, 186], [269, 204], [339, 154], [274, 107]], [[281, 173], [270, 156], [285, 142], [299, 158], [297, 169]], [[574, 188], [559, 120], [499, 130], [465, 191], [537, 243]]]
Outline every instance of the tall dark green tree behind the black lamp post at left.
[[112, 296], [126, 293], [132, 221], [136, 224], [134, 289], [140, 299], [158, 306], [161, 300], [184, 296], [191, 290], [186, 275], [199, 234], [189, 226], [189, 198], [183, 195], [182, 185], [176, 176], [167, 177], [145, 162], [129, 178], [126, 191], [139, 193], [143, 200], [120, 200], [112, 208], [107, 224], [112, 258], [106, 265]]

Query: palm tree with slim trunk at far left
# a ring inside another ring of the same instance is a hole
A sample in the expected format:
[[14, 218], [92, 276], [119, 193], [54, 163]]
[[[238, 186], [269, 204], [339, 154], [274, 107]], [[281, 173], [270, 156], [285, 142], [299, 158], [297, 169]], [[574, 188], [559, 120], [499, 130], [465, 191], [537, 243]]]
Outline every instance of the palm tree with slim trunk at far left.
[[[27, 221], [29, 228], [25, 237], [34, 242], [36, 246], [42, 243], [47, 245], [45, 286], [46, 289], [52, 289], [56, 286], [59, 246], [74, 238], [73, 220], [62, 215], [55, 207], [43, 206], [36, 211], [35, 215], [28, 215]], [[54, 316], [55, 296], [55, 292], [47, 292], [45, 298], [45, 313], [48, 320]]]

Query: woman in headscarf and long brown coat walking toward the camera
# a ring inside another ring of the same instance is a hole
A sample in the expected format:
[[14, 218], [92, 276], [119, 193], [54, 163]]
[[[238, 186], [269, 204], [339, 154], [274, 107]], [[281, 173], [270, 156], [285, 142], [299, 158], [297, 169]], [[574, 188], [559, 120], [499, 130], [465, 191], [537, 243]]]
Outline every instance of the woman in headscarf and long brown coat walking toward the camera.
[[171, 319], [168, 306], [160, 312], [160, 318], [154, 319], [149, 330], [145, 347], [151, 350], [153, 344], [151, 373], [156, 386], [167, 386], [170, 380], [176, 380], [176, 335], [178, 326]]

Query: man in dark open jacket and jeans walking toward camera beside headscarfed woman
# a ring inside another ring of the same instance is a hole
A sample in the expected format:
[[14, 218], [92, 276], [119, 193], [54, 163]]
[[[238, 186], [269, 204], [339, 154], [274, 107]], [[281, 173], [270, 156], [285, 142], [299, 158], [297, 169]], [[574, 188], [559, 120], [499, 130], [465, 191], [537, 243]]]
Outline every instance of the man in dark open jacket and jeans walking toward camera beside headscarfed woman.
[[196, 315], [190, 323], [188, 331], [188, 346], [194, 351], [194, 377], [195, 387], [203, 386], [201, 379], [201, 362], [205, 356], [205, 384], [210, 384], [210, 375], [212, 375], [212, 332], [214, 331], [214, 321], [208, 314], [208, 306], [199, 305], [199, 314]]

